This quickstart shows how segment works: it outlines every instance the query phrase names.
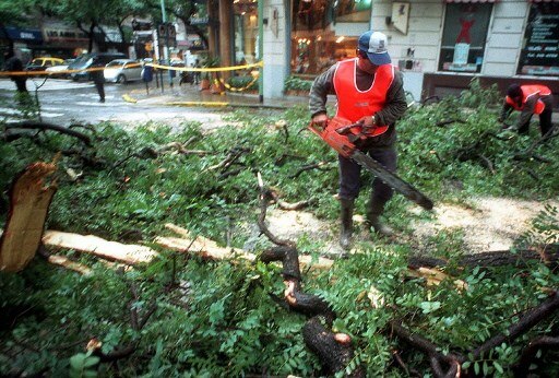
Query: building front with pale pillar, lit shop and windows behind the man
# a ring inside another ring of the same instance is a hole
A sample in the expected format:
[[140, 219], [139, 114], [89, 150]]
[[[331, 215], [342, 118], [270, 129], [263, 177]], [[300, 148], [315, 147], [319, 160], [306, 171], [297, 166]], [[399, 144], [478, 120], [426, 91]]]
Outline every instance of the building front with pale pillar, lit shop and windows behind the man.
[[558, 0], [264, 0], [264, 97], [355, 56], [369, 28], [389, 38], [419, 101], [459, 94], [473, 78], [504, 88], [539, 82], [559, 94]]

